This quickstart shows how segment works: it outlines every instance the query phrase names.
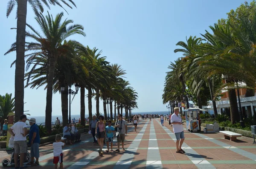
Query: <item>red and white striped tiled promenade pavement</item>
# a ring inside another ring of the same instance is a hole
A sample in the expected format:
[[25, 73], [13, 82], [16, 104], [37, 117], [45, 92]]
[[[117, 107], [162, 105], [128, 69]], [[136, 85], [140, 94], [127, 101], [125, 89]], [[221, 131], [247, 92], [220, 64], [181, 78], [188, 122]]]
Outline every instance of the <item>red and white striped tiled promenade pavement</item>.
[[[253, 141], [239, 138], [233, 142], [223, 139], [221, 133], [185, 132], [183, 149], [176, 153], [175, 135], [168, 122], [141, 120], [137, 133], [128, 125], [126, 151], [104, 153], [99, 157], [97, 145], [90, 135], [82, 136], [82, 142], [64, 147], [65, 169], [256, 169], [256, 145]], [[185, 125], [184, 125], [185, 127]], [[116, 140], [114, 142], [116, 149]], [[29, 168], [52, 169], [52, 145], [40, 147], [40, 166]], [[9, 158], [4, 152], [0, 160]], [[3, 166], [0, 166], [3, 168]], [[10, 167], [5, 167], [10, 168]]]

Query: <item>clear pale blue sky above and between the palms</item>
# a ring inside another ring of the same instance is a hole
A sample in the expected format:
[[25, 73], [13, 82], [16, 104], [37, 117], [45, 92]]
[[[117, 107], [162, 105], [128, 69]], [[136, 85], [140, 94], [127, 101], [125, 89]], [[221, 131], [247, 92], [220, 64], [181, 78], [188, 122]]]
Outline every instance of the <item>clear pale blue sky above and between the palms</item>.
[[[249, 0], [248, 2], [250, 2]], [[244, 0], [74, 0], [77, 8], [64, 12], [64, 18], [74, 20], [84, 26], [86, 37], [73, 36], [90, 48], [102, 50], [111, 63], [118, 63], [127, 72], [127, 80], [138, 93], [138, 110], [134, 112], [168, 111], [163, 105], [162, 94], [168, 65], [182, 54], [175, 54], [178, 41], [186, 36], [200, 36], [209, 30], [220, 18], [226, 18], [230, 9], [236, 9]], [[15, 42], [16, 27], [13, 11], [6, 18], [6, 4], [0, 6], [0, 94], [13, 93], [15, 67], [10, 68], [16, 53], [4, 56], [10, 45]], [[45, 8], [44, 14], [46, 14]], [[50, 14], [63, 11], [53, 7]], [[30, 7], [27, 23], [39, 30]], [[27, 29], [28, 30], [28, 29]], [[74, 90], [73, 86], [73, 90]], [[52, 115], [61, 115], [61, 96], [52, 98]], [[80, 94], [72, 103], [72, 114], [80, 113]], [[25, 110], [33, 116], [45, 114], [46, 90], [26, 88]], [[96, 112], [93, 101], [93, 113]], [[103, 104], [100, 102], [100, 112]], [[88, 114], [86, 100], [86, 114]]]

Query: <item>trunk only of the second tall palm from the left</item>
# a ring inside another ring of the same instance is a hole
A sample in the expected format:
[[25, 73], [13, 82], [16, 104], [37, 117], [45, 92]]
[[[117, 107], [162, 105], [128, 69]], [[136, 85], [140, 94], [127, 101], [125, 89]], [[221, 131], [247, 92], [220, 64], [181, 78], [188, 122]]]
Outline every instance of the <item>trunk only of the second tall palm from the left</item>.
[[56, 57], [49, 58], [49, 75], [47, 79], [47, 94], [46, 94], [46, 108], [45, 108], [45, 127], [48, 133], [52, 132], [52, 85], [55, 71]]

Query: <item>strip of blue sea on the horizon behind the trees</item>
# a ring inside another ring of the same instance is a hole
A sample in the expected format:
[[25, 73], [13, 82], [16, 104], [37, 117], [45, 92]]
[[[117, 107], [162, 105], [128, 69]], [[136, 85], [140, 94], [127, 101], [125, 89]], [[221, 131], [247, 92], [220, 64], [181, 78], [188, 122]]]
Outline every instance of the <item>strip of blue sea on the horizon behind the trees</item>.
[[[124, 114], [124, 112], [123, 112]], [[140, 114], [140, 115], [143, 115], [143, 114], [157, 114], [157, 115], [168, 115], [169, 112], [168, 111], [162, 111], [162, 112], [137, 112], [137, 113], [133, 113], [133, 115], [137, 115], [137, 114]], [[52, 124], [55, 124], [55, 120], [56, 118], [59, 118], [60, 121], [62, 122], [62, 115], [52, 115]], [[85, 118], [88, 118], [89, 115], [88, 114], [85, 114]], [[44, 124], [45, 123], [45, 116], [27, 116], [27, 118], [35, 118], [36, 120], [36, 123], [39, 125], [39, 124]], [[71, 115], [71, 119], [75, 118], [76, 120], [78, 120], [80, 118], [80, 115]]]

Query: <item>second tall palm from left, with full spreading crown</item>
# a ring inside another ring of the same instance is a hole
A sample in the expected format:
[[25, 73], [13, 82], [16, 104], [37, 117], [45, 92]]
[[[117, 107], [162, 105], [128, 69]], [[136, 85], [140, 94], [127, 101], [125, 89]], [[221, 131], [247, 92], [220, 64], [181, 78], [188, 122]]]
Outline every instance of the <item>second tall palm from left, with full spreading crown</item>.
[[[35, 20], [40, 25], [44, 36], [41, 36], [38, 31], [35, 31], [31, 25], [27, 24], [33, 33], [27, 32], [26, 36], [31, 37], [33, 40], [35, 40], [35, 42], [27, 43], [26, 50], [35, 52], [32, 52], [26, 56], [29, 57], [29, 60], [33, 60], [36, 56], [47, 56], [47, 62], [49, 64], [49, 69], [47, 70], [47, 101], [45, 117], [45, 126], [49, 132], [51, 132], [52, 86], [55, 63], [58, 57], [62, 57], [64, 55], [75, 55], [76, 51], [74, 48], [79, 48], [82, 51], [86, 51], [84, 46], [79, 42], [75, 40], [66, 41], [66, 39], [73, 34], [81, 34], [82, 36], [85, 36], [85, 33], [83, 32], [83, 26], [78, 24], [70, 25], [73, 23], [73, 20], [65, 20], [63, 23], [61, 23], [62, 17], [63, 12], [57, 14], [55, 20], [53, 20], [52, 15], [49, 13], [46, 17], [44, 17], [42, 14], [40, 14], [38, 17], [35, 17]], [[16, 50], [16, 44], [13, 46], [14, 47], [11, 48], [7, 53]]]

